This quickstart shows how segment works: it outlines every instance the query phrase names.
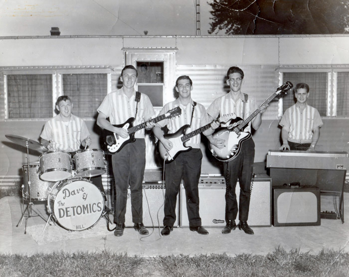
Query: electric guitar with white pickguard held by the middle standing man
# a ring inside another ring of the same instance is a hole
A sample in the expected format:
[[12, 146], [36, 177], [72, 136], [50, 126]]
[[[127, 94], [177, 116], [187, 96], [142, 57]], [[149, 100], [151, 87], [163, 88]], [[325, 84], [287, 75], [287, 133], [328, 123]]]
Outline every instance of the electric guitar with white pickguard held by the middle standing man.
[[[231, 119], [231, 115], [226, 115], [224, 118], [220, 118], [218, 116], [215, 121], [217, 122], [225, 122], [226, 120]], [[202, 126], [195, 131], [192, 131], [188, 134], [186, 134], [186, 130], [190, 127], [190, 125], [186, 124], [182, 127], [180, 127], [177, 132], [173, 134], [166, 134], [164, 135], [165, 139], [169, 139], [173, 147], [170, 150], [167, 150], [161, 141], [158, 141], [158, 152], [160, 156], [165, 160], [165, 162], [171, 162], [172, 160], [175, 159], [175, 157], [183, 151], [189, 151], [191, 149], [191, 146], [186, 146], [185, 142], [191, 139], [192, 137], [204, 132], [208, 128], [211, 127], [212, 123], [209, 123], [205, 126]]]

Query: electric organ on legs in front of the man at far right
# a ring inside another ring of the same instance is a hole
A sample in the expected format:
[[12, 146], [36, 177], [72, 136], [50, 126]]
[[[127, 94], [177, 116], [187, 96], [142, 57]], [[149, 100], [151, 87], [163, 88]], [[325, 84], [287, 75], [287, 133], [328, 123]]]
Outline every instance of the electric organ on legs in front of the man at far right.
[[337, 218], [344, 223], [344, 185], [349, 168], [347, 152], [269, 150], [267, 167], [273, 187], [296, 182], [340, 195]]

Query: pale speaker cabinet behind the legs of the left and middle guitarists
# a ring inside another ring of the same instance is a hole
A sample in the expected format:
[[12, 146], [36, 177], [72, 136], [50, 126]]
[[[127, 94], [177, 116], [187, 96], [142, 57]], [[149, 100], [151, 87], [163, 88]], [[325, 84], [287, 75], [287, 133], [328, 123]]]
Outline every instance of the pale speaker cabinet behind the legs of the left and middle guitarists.
[[[165, 185], [163, 183], [144, 183], [143, 184], [143, 224], [146, 227], [163, 227], [164, 220], [164, 201], [165, 201]], [[177, 219], [174, 227], [178, 225], [179, 217], [179, 193], [176, 205]], [[131, 212], [131, 191], [127, 191], [127, 207], [125, 215], [125, 226], [133, 227]]]

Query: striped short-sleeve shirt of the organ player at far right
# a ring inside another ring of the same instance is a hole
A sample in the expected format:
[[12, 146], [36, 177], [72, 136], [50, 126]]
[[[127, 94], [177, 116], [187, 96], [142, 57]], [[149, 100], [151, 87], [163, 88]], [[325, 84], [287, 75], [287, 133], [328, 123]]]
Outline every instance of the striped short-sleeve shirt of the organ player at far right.
[[285, 111], [279, 125], [288, 127], [287, 140], [296, 143], [310, 143], [313, 139], [314, 128], [321, 127], [323, 122], [316, 108], [306, 104], [302, 111], [295, 104]]

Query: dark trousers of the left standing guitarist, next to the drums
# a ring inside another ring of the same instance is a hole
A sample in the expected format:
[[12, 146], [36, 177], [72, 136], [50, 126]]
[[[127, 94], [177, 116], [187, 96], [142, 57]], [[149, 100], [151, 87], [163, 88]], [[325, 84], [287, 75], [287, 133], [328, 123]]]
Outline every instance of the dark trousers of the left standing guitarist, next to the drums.
[[127, 189], [131, 189], [131, 211], [134, 223], [143, 222], [142, 182], [146, 166], [146, 142], [136, 139], [112, 155], [115, 179], [115, 223], [125, 223]]

